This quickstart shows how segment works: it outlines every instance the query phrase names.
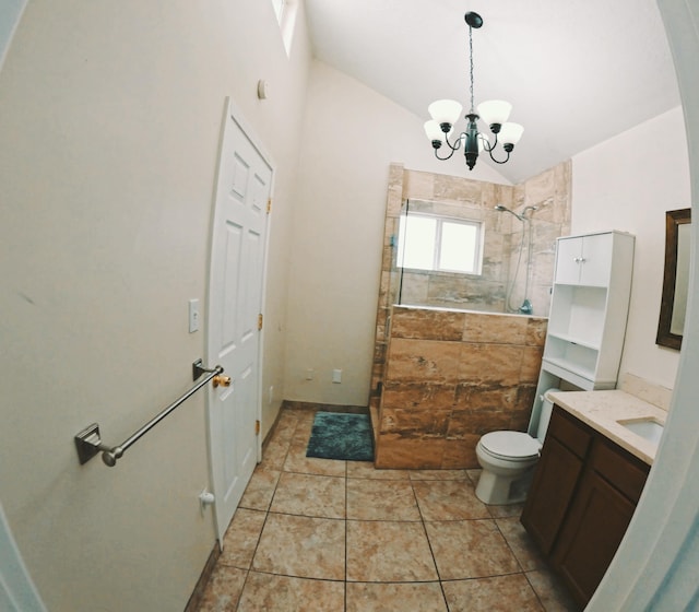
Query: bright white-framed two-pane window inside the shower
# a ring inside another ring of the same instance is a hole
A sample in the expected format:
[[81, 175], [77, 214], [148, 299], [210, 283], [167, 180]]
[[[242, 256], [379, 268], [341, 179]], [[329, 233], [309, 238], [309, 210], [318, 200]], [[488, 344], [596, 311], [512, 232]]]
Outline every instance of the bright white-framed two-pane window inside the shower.
[[482, 223], [429, 214], [402, 215], [398, 266], [415, 270], [479, 274]]

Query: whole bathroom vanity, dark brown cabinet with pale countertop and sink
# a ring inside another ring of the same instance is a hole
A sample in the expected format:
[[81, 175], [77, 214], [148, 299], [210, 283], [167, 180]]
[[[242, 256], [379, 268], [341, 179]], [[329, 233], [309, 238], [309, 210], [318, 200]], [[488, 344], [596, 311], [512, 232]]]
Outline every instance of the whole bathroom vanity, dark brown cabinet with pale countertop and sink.
[[620, 390], [550, 397], [521, 521], [584, 607], [633, 516], [666, 413]]

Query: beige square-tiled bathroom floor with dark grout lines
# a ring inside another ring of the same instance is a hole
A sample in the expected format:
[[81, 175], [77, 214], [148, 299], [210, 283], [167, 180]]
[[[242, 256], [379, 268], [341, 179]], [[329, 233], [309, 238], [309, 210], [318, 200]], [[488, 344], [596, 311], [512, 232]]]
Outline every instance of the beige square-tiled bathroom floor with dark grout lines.
[[312, 419], [282, 411], [199, 612], [576, 610], [478, 470], [307, 459]]

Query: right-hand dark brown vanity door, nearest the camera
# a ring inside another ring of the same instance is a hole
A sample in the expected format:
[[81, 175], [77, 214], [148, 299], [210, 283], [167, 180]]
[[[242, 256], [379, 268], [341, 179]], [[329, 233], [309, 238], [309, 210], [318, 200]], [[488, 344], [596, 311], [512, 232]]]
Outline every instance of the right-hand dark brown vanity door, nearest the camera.
[[588, 603], [597, 588], [635, 509], [600, 474], [585, 471], [553, 556], [554, 569], [579, 603]]

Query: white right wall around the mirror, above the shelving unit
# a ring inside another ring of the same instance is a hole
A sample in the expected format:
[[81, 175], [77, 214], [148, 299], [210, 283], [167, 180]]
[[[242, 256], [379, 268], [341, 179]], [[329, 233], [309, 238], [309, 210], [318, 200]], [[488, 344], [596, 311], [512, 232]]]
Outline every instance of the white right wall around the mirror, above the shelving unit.
[[665, 211], [691, 203], [682, 108], [576, 155], [572, 233], [636, 235], [621, 373], [673, 388], [679, 352], [655, 344], [665, 260]]

